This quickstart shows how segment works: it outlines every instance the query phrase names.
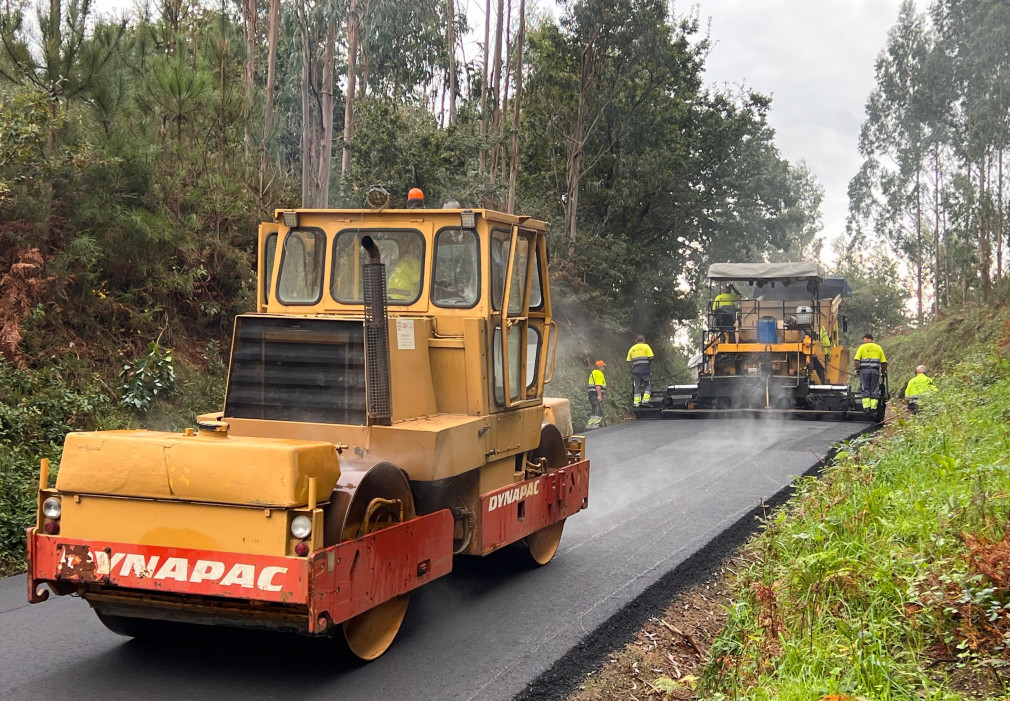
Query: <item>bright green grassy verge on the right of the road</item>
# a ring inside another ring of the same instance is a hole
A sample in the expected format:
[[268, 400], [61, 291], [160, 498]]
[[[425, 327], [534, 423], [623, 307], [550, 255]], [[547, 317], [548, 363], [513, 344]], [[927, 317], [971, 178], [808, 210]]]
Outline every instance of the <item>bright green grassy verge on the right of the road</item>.
[[1005, 696], [1010, 369], [972, 358], [940, 388], [801, 481], [747, 546], [705, 698]]

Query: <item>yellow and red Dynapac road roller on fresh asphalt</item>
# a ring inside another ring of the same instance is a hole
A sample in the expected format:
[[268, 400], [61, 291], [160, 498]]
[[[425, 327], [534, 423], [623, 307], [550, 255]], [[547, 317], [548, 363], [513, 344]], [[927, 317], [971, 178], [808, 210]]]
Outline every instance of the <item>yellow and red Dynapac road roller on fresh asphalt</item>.
[[490, 210], [285, 210], [259, 236], [223, 411], [67, 436], [43, 461], [28, 597], [109, 628], [334, 636], [382, 655], [456, 555], [537, 564], [586, 508], [553, 371], [546, 226]]

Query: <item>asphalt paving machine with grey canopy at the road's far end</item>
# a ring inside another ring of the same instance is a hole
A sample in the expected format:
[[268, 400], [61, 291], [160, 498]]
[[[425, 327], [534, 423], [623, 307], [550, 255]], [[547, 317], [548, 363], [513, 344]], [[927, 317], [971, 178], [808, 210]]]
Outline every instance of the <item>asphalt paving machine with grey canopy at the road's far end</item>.
[[639, 411], [872, 418], [855, 410], [848, 385], [844, 280], [813, 263], [727, 263], [711, 266], [708, 282], [697, 384], [672, 385], [660, 406]]

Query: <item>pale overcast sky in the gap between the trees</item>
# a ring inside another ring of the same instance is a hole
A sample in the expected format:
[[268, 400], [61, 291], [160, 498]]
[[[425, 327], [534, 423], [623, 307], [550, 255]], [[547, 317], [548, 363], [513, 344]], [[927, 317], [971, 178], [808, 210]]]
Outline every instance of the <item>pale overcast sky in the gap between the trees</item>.
[[[773, 98], [769, 121], [792, 163], [806, 162], [824, 187], [823, 235], [844, 232], [846, 189], [874, 63], [901, 0], [696, 0], [715, 42], [706, 78]], [[920, 11], [927, 2], [916, 0]], [[684, 3], [677, 3], [678, 13]], [[830, 246], [825, 246], [830, 254]]]

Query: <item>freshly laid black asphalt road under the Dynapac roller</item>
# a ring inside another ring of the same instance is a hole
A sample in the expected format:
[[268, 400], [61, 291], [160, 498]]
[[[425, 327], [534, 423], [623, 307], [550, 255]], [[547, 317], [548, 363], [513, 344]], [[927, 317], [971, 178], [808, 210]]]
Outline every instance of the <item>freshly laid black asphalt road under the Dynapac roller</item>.
[[392, 648], [365, 666], [294, 636], [131, 640], [84, 601], [29, 606], [23, 577], [0, 580], [0, 699], [551, 698], [595, 662], [579, 650], [606, 649], [615, 621], [649, 614], [636, 610], [643, 595], [676, 587], [689, 559], [864, 428], [740, 418], [594, 431], [590, 506], [569, 519], [554, 560], [458, 560], [413, 594]]

